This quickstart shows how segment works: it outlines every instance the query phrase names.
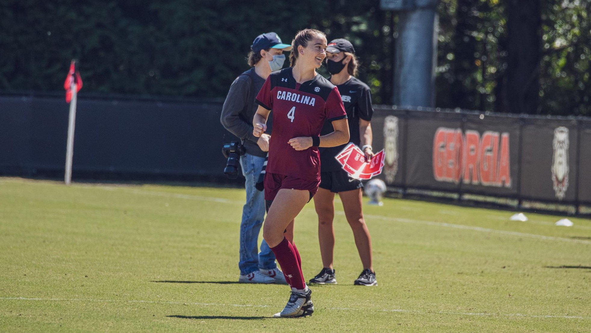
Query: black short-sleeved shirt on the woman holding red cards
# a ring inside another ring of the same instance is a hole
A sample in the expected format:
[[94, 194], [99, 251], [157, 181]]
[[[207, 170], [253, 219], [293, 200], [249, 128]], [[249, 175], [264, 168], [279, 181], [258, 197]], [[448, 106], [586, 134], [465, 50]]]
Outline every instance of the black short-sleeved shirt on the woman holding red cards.
[[[329, 77], [330, 80], [330, 77]], [[352, 76], [347, 82], [338, 85], [339, 93], [343, 99], [345, 112], [349, 120], [349, 141], [359, 146], [359, 119], [371, 121], [374, 108], [371, 105], [371, 90], [369, 86]], [[320, 135], [330, 134], [335, 129], [332, 122], [326, 121], [320, 131]], [[335, 156], [340, 153], [347, 144], [337, 147], [320, 147], [320, 172], [342, 170]], [[361, 148], [361, 147], [360, 147]]]

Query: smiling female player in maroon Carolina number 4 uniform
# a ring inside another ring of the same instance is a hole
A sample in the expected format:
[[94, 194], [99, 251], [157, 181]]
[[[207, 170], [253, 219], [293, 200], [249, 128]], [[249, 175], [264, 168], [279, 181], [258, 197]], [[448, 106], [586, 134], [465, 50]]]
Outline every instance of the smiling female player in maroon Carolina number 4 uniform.
[[[339, 90], [316, 73], [326, 57], [324, 33], [302, 30], [291, 45], [291, 67], [271, 73], [256, 96], [259, 107], [252, 134], [259, 137], [265, 132], [272, 110], [273, 135], [264, 180], [268, 212], [262, 234], [291, 286], [287, 305], [275, 316], [302, 317], [311, 315], [314, 306], [293, 244], [294, 218], [318, 190], [318, 147], [347, 143], [349, 126]], [[332, 122], [333, 131], [320, 137], [325, 120]]]

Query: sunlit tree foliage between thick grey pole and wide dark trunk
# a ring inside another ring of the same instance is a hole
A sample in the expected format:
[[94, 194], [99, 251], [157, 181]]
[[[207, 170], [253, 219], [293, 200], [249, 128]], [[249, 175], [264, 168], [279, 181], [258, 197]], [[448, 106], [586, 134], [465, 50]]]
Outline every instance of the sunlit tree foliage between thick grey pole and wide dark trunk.
[[505, 111], [507, 31], [498, 0], [439, 3], [437, 106]]

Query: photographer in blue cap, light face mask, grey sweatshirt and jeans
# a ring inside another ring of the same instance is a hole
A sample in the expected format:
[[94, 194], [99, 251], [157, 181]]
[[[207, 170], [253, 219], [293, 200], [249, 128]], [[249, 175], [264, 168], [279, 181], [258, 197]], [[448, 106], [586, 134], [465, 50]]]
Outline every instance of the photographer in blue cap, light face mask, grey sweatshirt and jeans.
[[226, 130], [239, 137], [246, 150], [240, 157], [242, 174], [246, 178], [246, 203], [242, 209], [240, 224], [240, 278], [244, 283], [285, 283], [285, 277], [275, 263], [275, 255], [265, 240], [258, 253], [258, 235], [265, 217], [264, 193], [256, 190], [255, 184], [261, 173], [265, 156], [269, 151], [269, 133], [261, 137], [252, 135], [252, 118], [258, 105], [255, 98], [265, 80], [275, 70], [280, 70], [285, 61], [284, 51], [290, 51], [290, 44], [281, 43], [275, 33], [258, 35], [248, 54], [251, 69], [242, 73], [230, 86], [222, 108], [220, 121]]

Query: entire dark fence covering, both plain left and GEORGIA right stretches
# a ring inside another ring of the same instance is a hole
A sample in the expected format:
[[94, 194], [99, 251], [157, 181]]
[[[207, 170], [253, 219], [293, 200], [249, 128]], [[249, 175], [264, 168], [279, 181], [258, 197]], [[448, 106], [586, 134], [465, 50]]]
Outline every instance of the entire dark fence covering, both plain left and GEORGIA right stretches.
[[[221, 102], [80, 97], [76, 179], [222, 181]], [[0, 175], [63, 175], [67, 104], [0, 96]], [[402, 195], [591, 214], [591, 119], [375, 106], [378, 177]]]

